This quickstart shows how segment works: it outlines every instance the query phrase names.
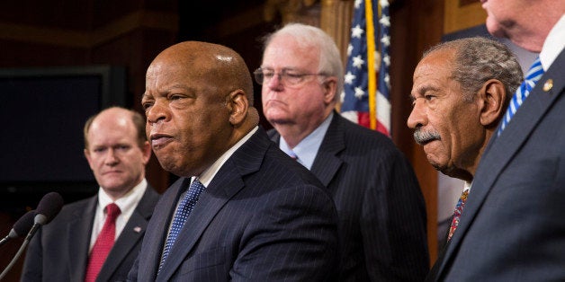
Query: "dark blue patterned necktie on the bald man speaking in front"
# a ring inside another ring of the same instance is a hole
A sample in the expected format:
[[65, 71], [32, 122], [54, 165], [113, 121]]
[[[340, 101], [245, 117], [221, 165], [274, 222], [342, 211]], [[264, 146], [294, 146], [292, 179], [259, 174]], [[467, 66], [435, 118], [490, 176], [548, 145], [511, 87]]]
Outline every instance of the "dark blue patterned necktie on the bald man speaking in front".
[[196, 202], [198, 201], [198, 198], [200, 198], [200, 194], [202, 193], [204, 188], [204, 185], [202, 185], [202, 183], [198, 179], [195, 179], [184, 194], [184, 198], [181, 200], [181, 203], [176, 208], [175, 216], [173, 217], [173, 224], [171, 225], [171, 230], [166, 237], [165, 250], [163, 251], [163, 256], [161, 257], [158, 271], [161, 271], [161, 269], [163, 268], [166, 257], [169, 255], [169, 252], [175, 244], [176, 236], [181, 233], [184, 222], [188, 218], [188, 215], [190, 215], [191, 211], [193, 211], [193, 207], [196, 205]]

